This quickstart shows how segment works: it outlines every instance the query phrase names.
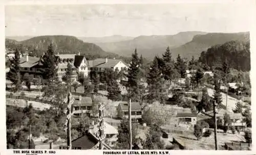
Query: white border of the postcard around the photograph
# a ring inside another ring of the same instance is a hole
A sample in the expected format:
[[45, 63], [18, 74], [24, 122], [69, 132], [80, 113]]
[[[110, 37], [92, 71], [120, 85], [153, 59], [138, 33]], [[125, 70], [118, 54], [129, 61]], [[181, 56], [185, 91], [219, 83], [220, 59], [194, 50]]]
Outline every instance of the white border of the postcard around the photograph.
[[[192, 0], [180, 0], [180, 1], [167, 1], [167, 0], [158, 0], [158, 1], [154, 1], [154, 0], [131, 0], [131, 1], [128, 1], [128, 0], [96, 0], [96, 1], [88, 1], [88, 0], [84, 0], [84, 1], [61, 1], [61, 0], [45, 0], [45, 1], [23, 1], [23, 0], [16, 0], [16, 1], [1, 1], [1, 6], [0, 6], [0, 26], [1, 26], [1, 29], [0, 29], [0, 40], [1, 40], [1, 43], [0, 43], [0, 49], [1, 49], [1, 68], [2, 68], [2, 71], [0, 74], [0, 78], [1, 78], [1, 85], [0, 85], [0, 88], [1, 88], [1, 98], [3, 99], [2, 102], [0, 103], [0, 114], [1, 114], [1, 119], [0, 119], [0, 137], [1, 137], [1, 142], [0, 142], [0, 154], [13, 154], [13, 150], [12, 149], [6, 149], [6, 111], [5, 111], [5, 55], [4, 55], [4, 51], [5, 51], [5, 12], [4, 12], [4, 8], [5, 8], [5, 5], [71, 5], [71, 4], [169, 4], [169, 3], [220, 3], [220, 4], [223, 4], [223, 3], [243, 3], [243, 4], [247, 4], [248, 5], [248, 9], [252, 9], [252, 12], [251, 14], [248, 14], [248, 16], [251, 17], [251, 29], [250, 29], [250, 46], [251, 46], [251, 73], [250, 73], [250, 76], [251, 76], [251, 85], [252, 85], [252, 97], [251, 97], [251, 102], [252, 102], [252, 105], [251, 105], [251, 111], [253, 112], [256, 107], [255, 107], [255, 104], [254, 102], [256, 101], [255, 100], [255, 97], [254, 97], [254, 92], [256, 91], [255, 90], [255, 81], [253, 81], [253, 79], [256, 79], [256, 76], [254, 74], [255, 72], [255, 61], [254, 61], [254, 58], [256, 58], [256, 48], [255, 48], [255, 34], [256, 34], [256, 31], [255, 31], [255, 21], [256, 21], [256, 17], [255, 17], [255, 14], [256, 14], [256, 5], [255, 5], [255, 2], [256, 1], [253, 1], [253, 0], [249, 0], [249, 1], [229, 1], [229, 0], [226, 0], [226, 1], [221, 1], [221, 0], [215, 0], [215, 1], [212, 1], [212, 0], [205, 0], [205, 1], [199, 1], [199, 0], [195, 0], [195, 1], [192, 1]], [[255, 141], [256, 141], [256, 134], [255, 134], [255, 130], [253, 131], [255, 127], [255, 120], [254, 119], [256, 118], [256, 113], [252, 113], [252, 150], [251, 151], [227, 151], [227, 150], [222, 150], [222, 151], [215, 151], [215, 150], [169, 150], [169, 152], [171, 154], [232, 154], [232, 155], [235, 155], [235, 154], [256, 154], [256, 150], [255, 150]], [[102, 151], [103, 150], [55, 150], [56, 151], [56, 154], [70, 154], [70, 153], [75, 153], [75, 154], [103, 154]], [[123, 151], [123, 150], [121, 150]], [[128, 150], [126, 150], [128, 151]], [[152, 150], [149, 150], [149, 151], [152, 151]]]

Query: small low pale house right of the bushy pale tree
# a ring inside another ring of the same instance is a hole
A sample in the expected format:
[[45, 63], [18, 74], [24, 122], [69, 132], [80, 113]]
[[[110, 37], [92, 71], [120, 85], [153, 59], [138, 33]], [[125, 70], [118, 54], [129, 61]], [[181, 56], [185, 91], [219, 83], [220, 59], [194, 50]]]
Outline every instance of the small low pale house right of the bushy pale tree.
[[197, 114], [193, 113], [177, 113], [175, 118], [175, 127], [193, 127], [197, 124]]

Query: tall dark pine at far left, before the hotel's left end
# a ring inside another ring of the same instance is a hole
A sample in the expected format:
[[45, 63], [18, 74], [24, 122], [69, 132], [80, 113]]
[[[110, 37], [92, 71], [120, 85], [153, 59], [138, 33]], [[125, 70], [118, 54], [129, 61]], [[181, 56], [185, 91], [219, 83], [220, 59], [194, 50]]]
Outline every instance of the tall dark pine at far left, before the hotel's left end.
[[22, 81], [20, 76], [20, 54], [19, 51], [15, 50], [15, 56], [10, 60], [10, 72], [7, 74], [7, 77], [12, 81], [14, 87], [14, 92], [18, 92], [22, 89]]

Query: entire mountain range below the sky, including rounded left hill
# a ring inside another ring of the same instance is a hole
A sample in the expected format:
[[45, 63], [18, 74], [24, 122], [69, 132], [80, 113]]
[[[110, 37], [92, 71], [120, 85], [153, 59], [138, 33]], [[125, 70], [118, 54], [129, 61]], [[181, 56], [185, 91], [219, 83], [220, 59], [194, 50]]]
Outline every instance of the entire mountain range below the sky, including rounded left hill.
[[[22, 37], [6, 37], [6, 47], [10, 45], [22, 44], [30, 46], [39, 51], [46, 51], [47, 46], [53, 43], [59, 53], [91, 54], [100, 57], [125, 56], [131, 57], [135, 48], [144, 58], [153, 59], [154, 56], [161, 56], [167, 47], [170, 48], [174, 58], [180, 54], [182, 57], [190, 59], [192, 56], [198, 58], [202, 51], [208, 48], [223, 44], [227, 41], [238, 40], [248, 41], [249, 32], [241, 33], [207, 33], [207, 32], [180, 32], [175, 35], [152, 35], [128, 37], [113, 35], [107, 37], [74, 37], [66, 35], [37, 36], [20, 40]], [[12, 39], [12, 40], [10, 40]], [[13, 40], [14, 39], [14, 40]], [[113, 54], [114, 53], [114, 54]]]

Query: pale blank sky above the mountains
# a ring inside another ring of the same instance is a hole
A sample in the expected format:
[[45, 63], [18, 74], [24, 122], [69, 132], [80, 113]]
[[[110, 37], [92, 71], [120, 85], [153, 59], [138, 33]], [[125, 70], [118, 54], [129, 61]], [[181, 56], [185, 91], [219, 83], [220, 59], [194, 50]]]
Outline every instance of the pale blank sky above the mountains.
[[5, 7], [6, 36], [171, 35], [183, 31], [246, 32], [242, 4], [15, 5]]

